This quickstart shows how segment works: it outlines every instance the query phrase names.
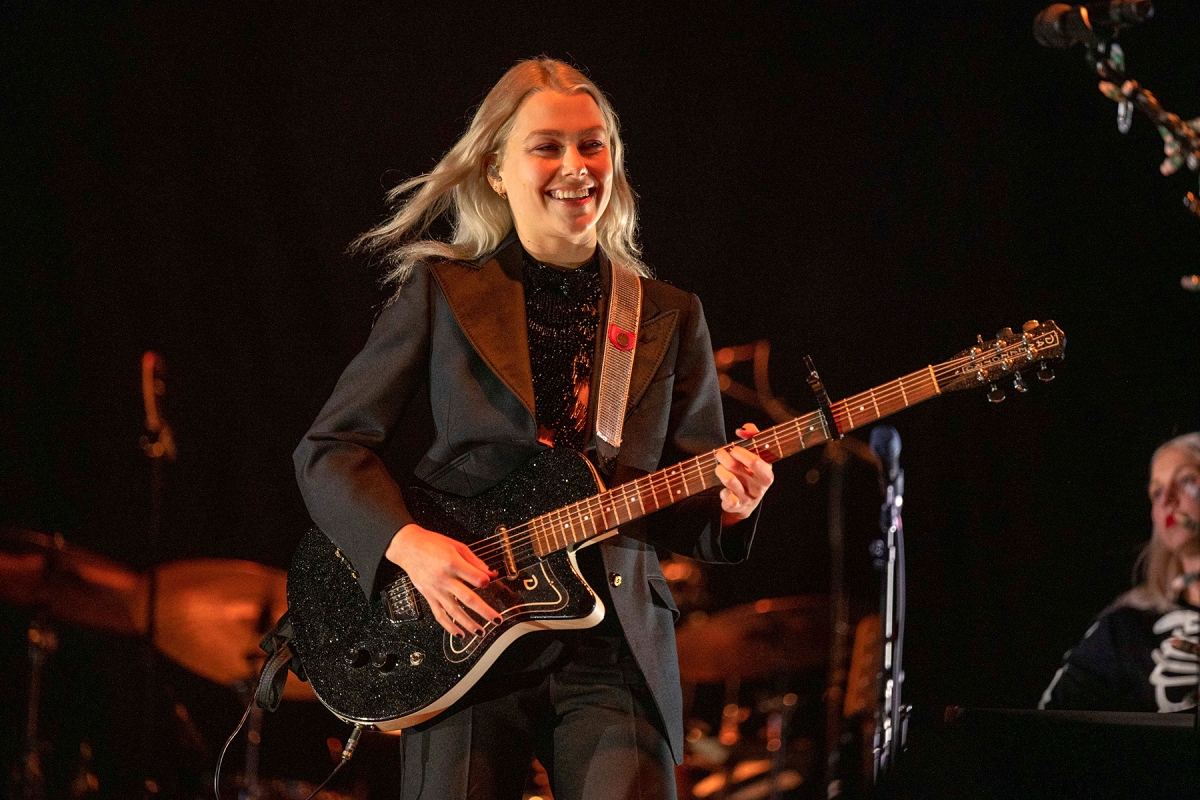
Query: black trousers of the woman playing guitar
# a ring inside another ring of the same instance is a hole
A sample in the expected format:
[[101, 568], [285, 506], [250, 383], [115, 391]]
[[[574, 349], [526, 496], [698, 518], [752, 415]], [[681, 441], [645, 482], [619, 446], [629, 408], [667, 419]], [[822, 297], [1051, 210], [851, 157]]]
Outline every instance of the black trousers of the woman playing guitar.
[[569, 670], [401, 736], [402, 800], [520, 800], [530, 756], [554, 800], [674, 800], [674, 760], [644, 686]]

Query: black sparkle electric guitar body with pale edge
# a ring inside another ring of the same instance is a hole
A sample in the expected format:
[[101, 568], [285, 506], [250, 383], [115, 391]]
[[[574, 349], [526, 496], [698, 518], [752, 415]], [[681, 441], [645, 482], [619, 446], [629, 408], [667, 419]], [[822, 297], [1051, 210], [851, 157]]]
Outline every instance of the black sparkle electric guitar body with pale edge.
[[[557, 449], [474, 498], [408, 488], [404, 501], [421, 527], [470, 545], [601, 488], [582, 456]], [[455, 703], [521, 634], [596, 625], [605, 609], [580, 575], [574, 548], [538, 558], [518, 539], [511, 541], [515, 571], [503, 569], [504, 558], [485, 558], [502, 575], [479, 595], [503, 621], [461, 639], [438, 625], [403, 576], [382, 579], [386, 588], [368, 602], [349, 560], [312, 528], [288, 572], [288, 608], [294, 650], [320, 702], [347, 722], [406, 728]]]

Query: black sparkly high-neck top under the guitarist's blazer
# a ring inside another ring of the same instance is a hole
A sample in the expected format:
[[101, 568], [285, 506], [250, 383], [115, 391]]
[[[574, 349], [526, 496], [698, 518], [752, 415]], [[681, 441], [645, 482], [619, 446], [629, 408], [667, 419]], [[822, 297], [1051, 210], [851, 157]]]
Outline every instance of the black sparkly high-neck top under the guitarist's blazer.
[[599, 251], [563, 270], [526, 253], [522, 269], [538, 438], [580, 452], [590, 440], [588, 389], [600, 323]]

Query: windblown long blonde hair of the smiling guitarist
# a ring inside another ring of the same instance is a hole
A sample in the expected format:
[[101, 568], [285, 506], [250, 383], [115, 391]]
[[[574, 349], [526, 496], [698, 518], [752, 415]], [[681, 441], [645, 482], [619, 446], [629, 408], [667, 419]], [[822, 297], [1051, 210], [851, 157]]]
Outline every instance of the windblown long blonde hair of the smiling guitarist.
[[[474, 260], [499, 247], [512, 230], [512, 213], [487, 182], [487, 163], [499, 157], [521, 104], [545, 90], [587, 92], [600, 107], [613, 178], [608, 207], [596, 223], [596, 240], [614, 265], [649, 277], [637, 243], [637, 205], [625, 176], [617, 113], [583, 73], [547, 58], [521, 61], [505, 72], [480, 103], [462, 138], [432, 170], [388, 193], [392, 216], [355, 239], [350, 251], [382, 254], [388, 267], [383, 283], [394, 284], [398, 293], [418, 261]], [[443, 215], [450, 219], [450, 241], [421, 239]]]

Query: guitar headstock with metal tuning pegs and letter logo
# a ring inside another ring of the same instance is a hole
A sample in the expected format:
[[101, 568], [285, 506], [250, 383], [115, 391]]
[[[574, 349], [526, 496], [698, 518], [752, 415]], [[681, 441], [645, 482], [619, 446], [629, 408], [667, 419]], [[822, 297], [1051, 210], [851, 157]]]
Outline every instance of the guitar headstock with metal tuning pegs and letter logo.
[[978, 344], [934, 369], [943, 392], [990, 385], [988, 399], [998, 403], [1004, 399], [1004, 392], [996, 381], [1010, 377], [1013, 387], [1024, 392], [1026, 385], [1021, 373], [1033, 367], [1037, 367], [1039, 380], [1054, 380], [1050, 362], [1062, 360], [1066, 349], [1067, 337], [1054, 320], [1031, 319], [1021, 326], [1020, 333], [1006, 327], [989, 342], [980, 336]]

